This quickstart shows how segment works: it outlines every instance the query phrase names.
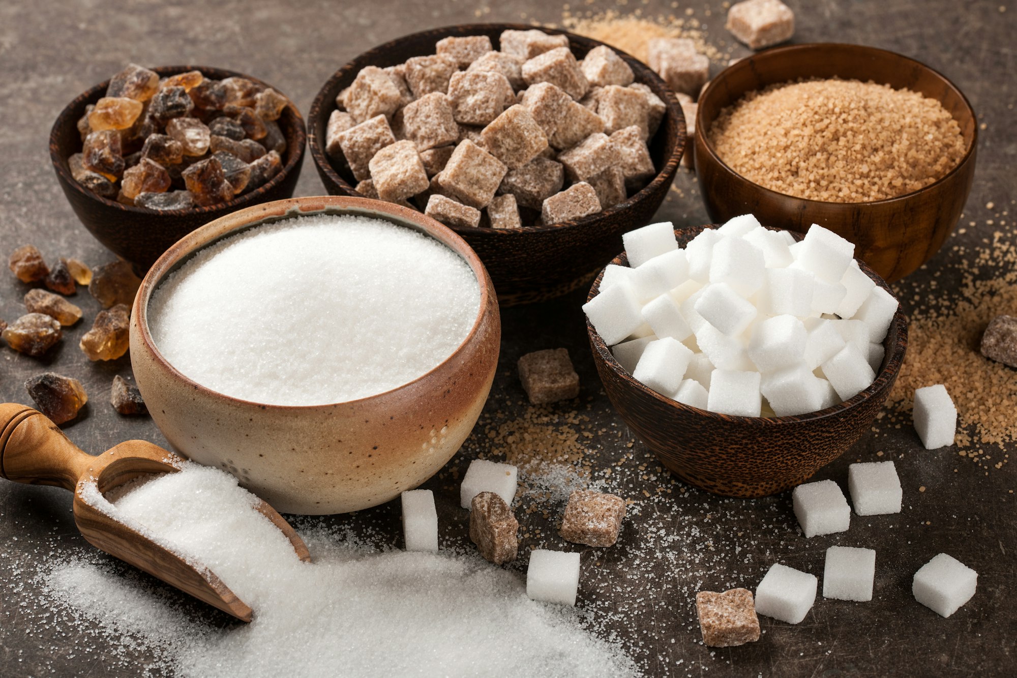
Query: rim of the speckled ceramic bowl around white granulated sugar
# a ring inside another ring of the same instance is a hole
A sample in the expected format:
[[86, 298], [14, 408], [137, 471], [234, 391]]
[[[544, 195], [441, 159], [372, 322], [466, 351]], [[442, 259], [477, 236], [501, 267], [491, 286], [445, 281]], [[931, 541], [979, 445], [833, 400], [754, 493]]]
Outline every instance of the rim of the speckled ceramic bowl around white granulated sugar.
[[[280, 214], [278, 210], [282, 210], [282, 213]], [[268, 212], [274, 212], [274, 214], [266, 214]], [[213, 245], [216, 242], [220, 242], [225, 238], [237, 235], [241, 231], [257, 228], [263, 224], [271, 224], [302, 216], [315, 216], [320, 214], [343, 215], [350, 214], [351, 212], [360, 213], [364, 216], [387, 221], [388, 223], [397, 226], [411, 228], [417, 232], [423, 233], [459, 255], [467, 263], [467, 265], [469, 265], [471, 271], [473, 271], [474, 278], [477, 281], [477, 286], [480, 291], [477, 316], [473, 321], [473, 325], [470, 327], [469, 333], [467, 333], [463, 341], [460, 342], [460, 344], [456, 346], [456, 348], [439, 363], [405, 384], [400, 384], [399, 386], [382, 391], [381, 393], [374, 393], [362, 398], [310, 405], [280, 405], [246, 400], [244, 398], [238, 398], [236, 396], [215, 391], [181, 373], [159, 350], [159, 347], [156, 345], [156, 341], [153, 339], [152, 333], [148, 330], [147, 313], [152, 295], [168, 275], [178, 270], [180, 266], [186, 263], [187, 260], [199, 250]], [[232, 225], [226, 231], [219, 233], [218, 235], [216, 234], [216, 231], [230, 223], [232, 223]], [[443, 238], [446, 238], [447, 241], [440, 239], [437, 235], [441, 235]], [[155, 264], [152, 265], [152, 268], [148, 269], [148, 272], [142, 279], [132, 305], [131, 325], [133, 326], [136, 324], [139, 341], [144, 344], [145, 348], [152, 353], [153, 357], [159, 362], [160, 366], [165, 372], [169, 373], [175, 379], [181, 381], [183, 384], [186, 384], [194, 390], [204, 393], [206, 396], [241, 407], [253, 406], [259, 407], [260, 409], [274, 410], [306, 411], [335, 408], [339, 406], [356, 407], [369, 403], [370, 401], [381, 400], [399, 391], [411, 387], [418, 382], [424, 381], [438, 370], [443, 369], [452, 360], [457, 359], [460, 353], [462, 353], [463, 350], [473, 342], [474, 337], [484, 325], [484, 322], [489, 316], [488, 309], [490, 309], [490, 314], [493, 314], [498, 322], [500, 321], [497, 296], [494, 294], [493, 290], [494, 287], [491, 283], [490, 277], [487, 275], [487, 269], [484, 268], [484, 265], [477, 256], [477, 252], [473, 250], [469, 243], [467, 243], [466, 240], [464, 240], [451, 228], [434, 219], [431, 219], [430, 217], [425, 216], [423, 213], [409, 210], [394, 203], [384, 203], [382, 201], [375, 201], [367, 197], [352, 197], [349, 195], [304, 195], [300, 197], [288, 197], [280, 201], [261, 203], [243, 210], [231, 212], [194, 229], [184, 237], [180, 238], [173, 244], [173, 246], [167, 249]]]

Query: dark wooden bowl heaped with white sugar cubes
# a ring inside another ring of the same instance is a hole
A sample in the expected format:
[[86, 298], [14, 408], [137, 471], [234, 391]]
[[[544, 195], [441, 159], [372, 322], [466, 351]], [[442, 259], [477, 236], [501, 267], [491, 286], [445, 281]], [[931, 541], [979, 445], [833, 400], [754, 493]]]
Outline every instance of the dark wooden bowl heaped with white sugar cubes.
[[907, 322], [887, 284], [821, 225], [752, 215], [651, 224], [583, 306], [594, 361], [625, 422], [687, 483], [733, 497], [800, 484], [872, 426]]

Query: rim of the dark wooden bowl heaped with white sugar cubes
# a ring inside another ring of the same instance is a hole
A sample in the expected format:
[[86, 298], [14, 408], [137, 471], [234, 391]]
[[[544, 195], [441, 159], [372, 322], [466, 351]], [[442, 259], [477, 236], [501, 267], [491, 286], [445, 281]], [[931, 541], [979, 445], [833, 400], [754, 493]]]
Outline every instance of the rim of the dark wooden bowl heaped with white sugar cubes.
[[[708, 228], [719, 228], [719, 224], [706, 224], [703, 226], [684, 226], [681, 228], [674, 229], [675, 235], [681, 231], [699, 230], [702, 232]], [[788, 229], [781, 229], [776, 227], [767, 226], [768, 229], [773, 231], [787, 231], [795, 239], [800, 240], [803, 236], [796, 231], [791, 231]], [[698, 233], [697, 233], [698, 235]], [[886, 291], [890, 292], [895, 299], [897, 296], [893, 294], [893, 290], [887, 284], [883, 278], [880, 277], [876, 271], [869, 267], [863, 261], [855, 259], [858, 263], [858, 267], [861, 271], [868, 275], [877, 286], [882, 287]], [[616, 266], [627, 266], [629, 258], [624, 251], [611, 260], [611, 264]], [[605, 267], [606, 269], [606, 267]], [[590, 292], [587, 294], [587, 301], [590, 301], [600, 292], [600, 281], [604, 276], [604, 269], [597, 274], [596, 279], [593, 281], [593, 285], [590, 287]], [[897, 375], [900, 372], [901, 366], [904, 362], [904, 354], [907, 351], [907, 317], [904, 315], [900, 300], [897, 299], [897, 312], [894, 314], [893, 320], [891, 321], [891, 327], [896, 327], [897, 329], [897, 340], [889, 347], [887, 355], [884, 356], [884, 361], [886, 366], [881, 369], [876, 375], [876, 379], [868, 387], [851, 396], [847, 400], [841, 401], [835, 405], [831, 405], [825, 409], [819, 409], [813, 412], [805, 412], [803, 414], [789, 414], [785, 416], [741, 416], [738, 414], [722, 414], [720, 412], [711, 412], [706, 409], [700, 409], [699, 407], [693, 407], [692, 405], [686, 405], [685, 403], [678, 402], [677, 400], [672, 400], [660, 393], [657, 393], [649, 386], [643, 384], [636, 380], [621, 363], [615, 359], [614, 354], [611, 352], [610, 347], [601, 338], [600, 334], [594, 329], [593, 325], [590, 323], [590, 319], [586, 318], [586, 329], [587, 334], [590, 339], [591, 345], [594, 347], [594, 360], [598, 358], [604, 362], [605, 365], [610, 368], [610, 370], [618, 376], [621, 381], [623, 381], [629, 388], [637, 389], [645, 394], [653, 396], [655, 399], [660, 401], [663, 405], [670, 405], [679, 411], [685, 411], [692, 414], [698, 414], [705, 416], [708, 419], [714, 419], [716, 421], [725, 421], [729, 423], [740, 423], [756, 427], [772, 427], [774, 425], [791, 425], [791, 423], [803, 423], [812, 421], [822, 421], [823, 419], [837, 416], [842, 412], [861, 404], [865, 400], [876, 396], [885, 388], [888, 388], [897, 379]], [[890, 332], [887, 332], [887, 338], [884, 339], [884, 348], [887, 348], [886, 341], [890, 337]]]

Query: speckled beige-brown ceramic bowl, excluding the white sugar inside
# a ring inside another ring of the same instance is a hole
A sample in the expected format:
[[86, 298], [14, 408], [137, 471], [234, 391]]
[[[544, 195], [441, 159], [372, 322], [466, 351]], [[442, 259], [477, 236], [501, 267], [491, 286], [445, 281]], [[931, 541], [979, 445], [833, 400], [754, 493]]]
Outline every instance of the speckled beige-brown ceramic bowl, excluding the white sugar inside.
[[[480, 284], [480, 309], [459, 348], [409, 384], [330, 405], [262, 405], [231, 398], [174, 370], [148, 332], [148, 300], [160, 282], [194, 251], [221, 238], [258, 224], [321, 213], [369, 216], [414, 228], [466, 260]], [[217, 219], [170, 247], [148, 271], [134, 300], [130, 355], [148, 411], [178, 452], [230, 471], [279, 511], [346, 513], [417, 487], [459, 450], [487, 400], [500, 335], [487, 272], [450, 229], [388, 203], [298, 197]]]

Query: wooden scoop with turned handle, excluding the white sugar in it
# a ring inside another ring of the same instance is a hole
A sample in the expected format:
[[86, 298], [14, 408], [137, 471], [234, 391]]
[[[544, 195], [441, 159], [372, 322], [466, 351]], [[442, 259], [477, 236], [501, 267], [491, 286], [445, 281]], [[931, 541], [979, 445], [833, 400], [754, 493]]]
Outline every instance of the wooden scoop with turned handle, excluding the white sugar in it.
[[[74, 522], [94, 547], [249, 622], [251, 609], [215, 572], [189, 565], [81, 498], [85, 482], [94, 479], [105, 494], [141, 475], [176, 472], [183, 462], [182, 457], [143, 440], [120, 443], [94, 457], [78, 449], [42, 412], [16, 403], [0, 404], [0, 476], [71, 490]], [[262, 501], [257, 509], [286, 534], [300, 560], [310, 560], [307, 546], [274, 508]]]

